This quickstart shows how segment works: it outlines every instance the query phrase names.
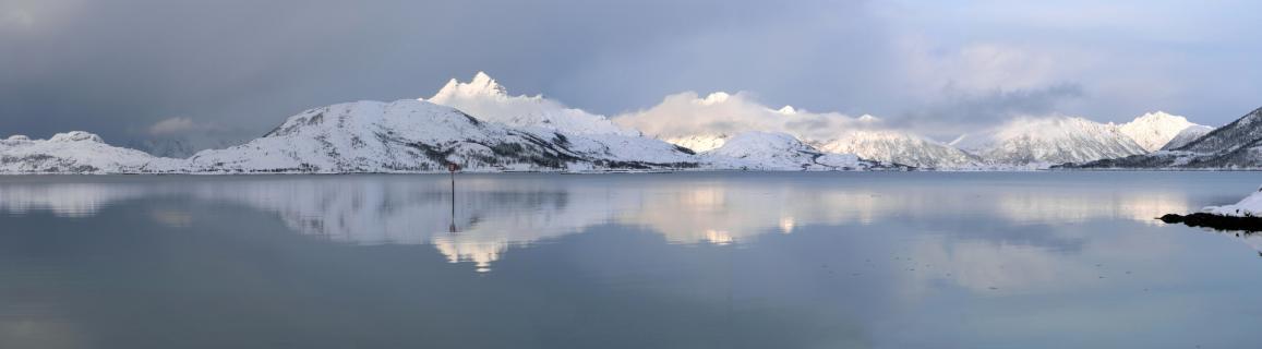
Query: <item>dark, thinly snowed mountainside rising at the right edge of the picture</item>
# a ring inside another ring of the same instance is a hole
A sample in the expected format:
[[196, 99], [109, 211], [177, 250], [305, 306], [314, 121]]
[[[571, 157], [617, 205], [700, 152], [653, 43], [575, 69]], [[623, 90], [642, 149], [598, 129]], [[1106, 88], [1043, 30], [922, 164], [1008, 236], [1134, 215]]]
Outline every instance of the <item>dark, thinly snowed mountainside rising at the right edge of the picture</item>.
[[1262, 108], [1182, 146], [1069, 168], [1088, 169], [1262, 169]]

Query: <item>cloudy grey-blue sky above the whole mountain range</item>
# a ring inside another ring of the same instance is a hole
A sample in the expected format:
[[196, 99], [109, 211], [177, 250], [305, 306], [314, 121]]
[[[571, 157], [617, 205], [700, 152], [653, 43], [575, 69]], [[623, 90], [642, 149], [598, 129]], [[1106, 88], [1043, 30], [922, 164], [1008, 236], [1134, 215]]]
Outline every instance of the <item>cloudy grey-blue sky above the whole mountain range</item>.
[[252, 137], [478, 71], [615, 117], [726, 91], [945, 140], [1041, 115], [1218, 126], [1262, 106], [1259, 23], [1243, 0], [0, 0], [0, 135]]

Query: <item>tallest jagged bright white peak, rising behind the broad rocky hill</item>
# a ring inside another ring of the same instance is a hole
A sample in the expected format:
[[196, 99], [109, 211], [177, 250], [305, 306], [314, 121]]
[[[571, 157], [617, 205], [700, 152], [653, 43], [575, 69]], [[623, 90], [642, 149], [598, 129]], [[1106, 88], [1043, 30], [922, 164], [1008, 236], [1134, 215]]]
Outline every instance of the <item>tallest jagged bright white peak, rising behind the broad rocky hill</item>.
[[543, 96], [509, 96], [504, 86], [483, 72], [468, 83], [451, 79], [429, 97], [435, 105], [458, 108], [480, 120], [515, 127], [541, 127], [567, 134], [640, 136], [607, 117], [569, 108]]

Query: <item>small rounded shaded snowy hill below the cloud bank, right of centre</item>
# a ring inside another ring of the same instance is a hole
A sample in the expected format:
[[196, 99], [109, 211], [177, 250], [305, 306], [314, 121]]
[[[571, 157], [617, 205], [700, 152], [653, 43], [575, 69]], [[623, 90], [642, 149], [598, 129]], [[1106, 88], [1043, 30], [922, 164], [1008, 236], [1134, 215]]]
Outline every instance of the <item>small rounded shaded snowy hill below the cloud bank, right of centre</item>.
[[828, 154], [782, 132], [741, 132], [703, 152], [716, 168], [748, 170], [864, 170], [880, 164], [851, 154]]

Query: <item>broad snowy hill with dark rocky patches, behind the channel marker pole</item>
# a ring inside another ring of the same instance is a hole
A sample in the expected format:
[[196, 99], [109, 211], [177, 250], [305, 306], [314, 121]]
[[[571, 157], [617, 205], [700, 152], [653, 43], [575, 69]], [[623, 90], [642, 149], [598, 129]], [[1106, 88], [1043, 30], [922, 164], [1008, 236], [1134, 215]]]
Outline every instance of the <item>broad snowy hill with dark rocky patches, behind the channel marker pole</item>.
[[[634, 147], [642, 145], [635, 137], [612, 139], [613, 146], [644, 150]], [[644, 152], [675, 151], [679, 156], [669, 160], [693, 159], [671, 145], [651, 144], [659, 147]], [[212, 173], [440, 171], [448, 161], [471, 171], [690, 166], [612, 155], [604, 145], [485, 122], [424, 101], [363, 101], [305, 111], [264, 137], [201, 151], [189, 161], [193, 171]]]

